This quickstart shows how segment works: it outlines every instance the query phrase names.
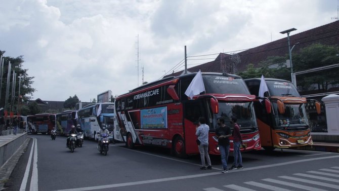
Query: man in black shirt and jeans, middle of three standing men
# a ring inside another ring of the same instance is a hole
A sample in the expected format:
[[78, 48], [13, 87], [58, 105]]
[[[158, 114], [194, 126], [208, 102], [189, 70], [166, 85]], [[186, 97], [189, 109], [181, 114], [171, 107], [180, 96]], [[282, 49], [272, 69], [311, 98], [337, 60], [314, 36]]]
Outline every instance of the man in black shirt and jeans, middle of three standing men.
[[227, 160], [228, 154], [230, 151], [230, 140], [229, 137], [232, 135], [231, 128], [225, 125], [225, 119], [218, 119], [219, 128], [216, 130], [216, 135], [218, 136], [218, 146], [220, 150], [221, 163], [223, 165], [222, 173], [227, 172]]

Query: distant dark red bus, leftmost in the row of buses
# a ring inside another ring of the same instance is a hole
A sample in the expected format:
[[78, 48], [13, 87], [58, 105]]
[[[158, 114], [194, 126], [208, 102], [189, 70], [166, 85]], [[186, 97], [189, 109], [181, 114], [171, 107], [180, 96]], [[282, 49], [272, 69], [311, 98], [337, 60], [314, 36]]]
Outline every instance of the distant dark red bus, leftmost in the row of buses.
[[[55, 127], [55, 114], [40, 113], [27, 116], [29, 129], [32, 133], [50, 134]], [[33, 126], [33, 127], [32, 127]]]

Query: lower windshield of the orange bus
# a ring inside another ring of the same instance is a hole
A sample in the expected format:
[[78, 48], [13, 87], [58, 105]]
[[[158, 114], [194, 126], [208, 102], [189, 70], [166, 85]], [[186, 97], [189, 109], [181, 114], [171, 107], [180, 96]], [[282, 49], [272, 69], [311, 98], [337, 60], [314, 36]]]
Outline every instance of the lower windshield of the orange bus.
[[280, 114], [277, 103], [273, 103], [275, 125], [277, 127], [290, 127], [293, 125], [308, 125], [305, 104], [284, 104], [285, 112]]

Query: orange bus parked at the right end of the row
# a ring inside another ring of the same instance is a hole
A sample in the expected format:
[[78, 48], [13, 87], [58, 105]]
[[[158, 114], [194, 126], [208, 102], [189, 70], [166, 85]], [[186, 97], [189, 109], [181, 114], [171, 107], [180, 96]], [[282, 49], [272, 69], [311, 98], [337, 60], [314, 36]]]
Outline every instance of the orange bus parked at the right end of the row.
[[[265, 79], [272, 112], [267, 113], [265, 103], [255, 102], [262, 147], [266, 150], [312, 145], [311, 129], [306, 113], [306, 98], [286, 80]], [[246, 79], [250, 93], [259, 96], [261, 79]], [[320, 103], [315, 102], [320, 113]]]

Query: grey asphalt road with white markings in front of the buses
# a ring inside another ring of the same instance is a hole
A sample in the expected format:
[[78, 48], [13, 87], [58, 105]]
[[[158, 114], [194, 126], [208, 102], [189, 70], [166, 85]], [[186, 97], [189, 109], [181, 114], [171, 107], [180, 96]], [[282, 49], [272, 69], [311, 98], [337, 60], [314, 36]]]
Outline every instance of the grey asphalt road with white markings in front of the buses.
[[[7, 182], [7, 190], [339, 189], [336, 153], [251, 151], [243, 153], [243, 170], [222, 174], [219, 157], [212, 158], [212, 170], [202, 171], [198, 156], [178, 159], [162, 148], [127, 149], [117, 143], [111, 144], [108, 155], [103, 156], [93, 141], [86, 141], [71, 153], [65, 147], [66, 137], [55, 141], [47, 135], [29, 137], [27, 151]], [[229, 166], [232, 161], [230, 157]]]

